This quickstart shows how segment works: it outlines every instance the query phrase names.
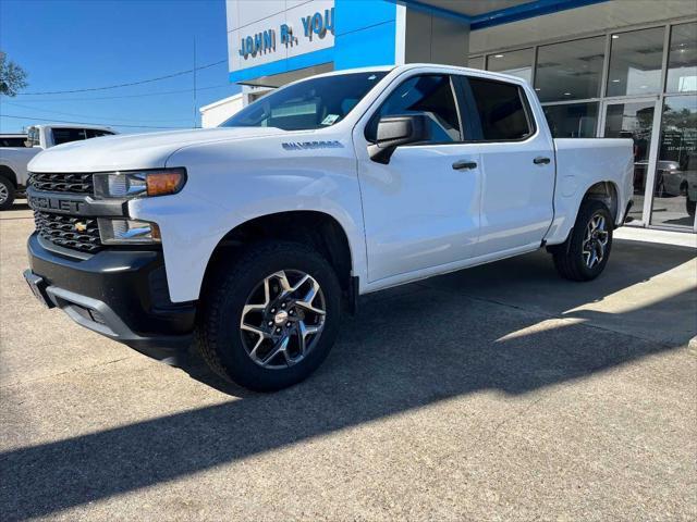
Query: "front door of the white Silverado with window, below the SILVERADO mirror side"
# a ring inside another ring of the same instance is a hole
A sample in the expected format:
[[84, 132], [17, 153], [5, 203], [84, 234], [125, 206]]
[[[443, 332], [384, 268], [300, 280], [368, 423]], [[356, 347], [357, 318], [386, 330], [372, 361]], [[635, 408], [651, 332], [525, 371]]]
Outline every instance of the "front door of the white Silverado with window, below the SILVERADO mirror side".
[[[366, 148], [380, 116], [425, 114], [428, 142], [399, 147], [388, 164]], [[411, 74], [382, 95], [357, 125], [354, 144], [370, 283], [413, 278], [467, 259], [479, 235], [481, 174], [477, 145], [465, 144], [455, 85], [448, 74]]]

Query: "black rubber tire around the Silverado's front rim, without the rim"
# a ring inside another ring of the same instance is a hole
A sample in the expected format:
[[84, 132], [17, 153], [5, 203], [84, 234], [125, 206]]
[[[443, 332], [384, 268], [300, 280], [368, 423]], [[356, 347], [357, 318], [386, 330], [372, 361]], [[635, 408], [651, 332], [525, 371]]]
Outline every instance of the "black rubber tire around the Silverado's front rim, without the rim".
[[[326, 314], [321, 334], [304, 359], [268, 369], [245, 349], [240, 323], [255, 288], [279, 271], [310, 275], [320, 285]], [[233, 261], [218, 263], [207, 277], [203, 296], [197, 345], [204, 360], [221, 377], [257, 391], [273, 391], [305, 380], [327, 358], [339, 333], [341, 286], [337, 274], [322, 256], [303, 244], [264, 241], [249, 246]]]

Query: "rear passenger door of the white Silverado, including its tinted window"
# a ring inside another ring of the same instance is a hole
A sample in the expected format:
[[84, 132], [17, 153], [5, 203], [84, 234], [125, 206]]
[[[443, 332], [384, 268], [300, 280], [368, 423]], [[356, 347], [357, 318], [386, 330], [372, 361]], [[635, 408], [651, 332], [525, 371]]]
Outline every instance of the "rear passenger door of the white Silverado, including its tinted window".
[[539, 105], [515, 83], [475, 75], [458, 80], [481, 153], [476, 254], [539, 245], [553, 219], [555, 176], [553, 141], [543, 115], [533, 110]]

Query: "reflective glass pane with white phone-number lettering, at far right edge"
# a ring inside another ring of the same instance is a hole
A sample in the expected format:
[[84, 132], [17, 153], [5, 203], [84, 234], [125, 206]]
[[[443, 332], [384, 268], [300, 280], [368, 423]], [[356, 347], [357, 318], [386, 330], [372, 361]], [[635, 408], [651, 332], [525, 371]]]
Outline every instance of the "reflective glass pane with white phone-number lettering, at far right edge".
[[665, 99], [651, 224], [695, 223], [697, 202], [697, 97]]

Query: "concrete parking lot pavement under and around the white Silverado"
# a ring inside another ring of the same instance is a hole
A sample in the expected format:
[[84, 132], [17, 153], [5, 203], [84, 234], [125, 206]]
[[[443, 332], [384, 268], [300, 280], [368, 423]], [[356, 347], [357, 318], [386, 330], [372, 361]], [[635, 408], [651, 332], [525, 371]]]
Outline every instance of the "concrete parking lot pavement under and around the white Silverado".
[[[272, 395], [44, 310], [0, 215], [2, 520], [695, 520], [697, 250], [617, 239], [366, 296]], [[694, 236], [693, 236], [694, 237]]]

